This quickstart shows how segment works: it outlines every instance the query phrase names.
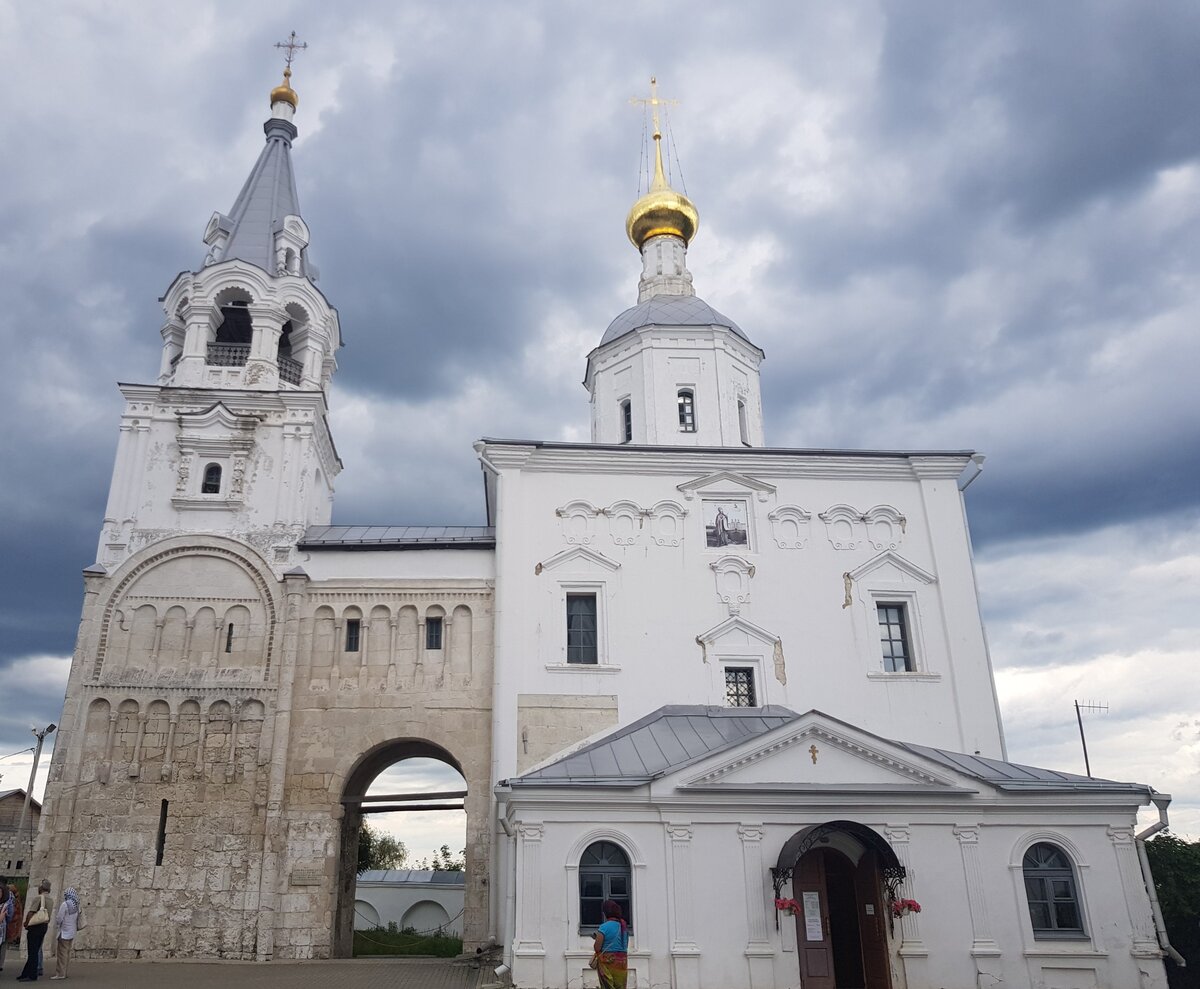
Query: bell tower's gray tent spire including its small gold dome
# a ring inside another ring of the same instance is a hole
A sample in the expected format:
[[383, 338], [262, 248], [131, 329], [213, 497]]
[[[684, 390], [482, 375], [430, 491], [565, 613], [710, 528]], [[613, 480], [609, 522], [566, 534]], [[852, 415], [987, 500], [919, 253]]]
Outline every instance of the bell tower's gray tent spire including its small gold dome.
[[[277, 98], [287, 89], [292, 98]], [[227, 214], [214, 214], [204, 242], [210, 245], [204, 264], [240, 260], [258, 265], [271, 275], [283, 274], [276, 257], [276, 234], [288, 216], [300, 216], [295, 173], [292, 170], [292, 142], [296, 127], [290, 116], [295, 110], [290, 88], [272, 92], [271, 119], [263, 125], [266, 145], [250, 172]], [[299, 251], [299, 262], [287, 274], [317, 280], [317, 269], [308, 260], [307, 246]]]

